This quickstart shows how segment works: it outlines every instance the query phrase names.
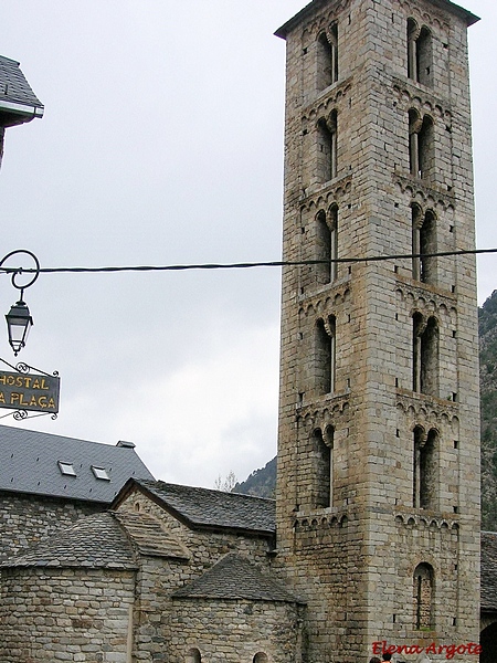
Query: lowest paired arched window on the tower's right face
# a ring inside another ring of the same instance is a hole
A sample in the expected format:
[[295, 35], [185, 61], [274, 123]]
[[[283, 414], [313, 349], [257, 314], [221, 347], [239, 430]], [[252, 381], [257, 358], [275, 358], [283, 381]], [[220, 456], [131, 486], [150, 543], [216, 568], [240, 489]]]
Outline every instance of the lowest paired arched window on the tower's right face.
[[421, 427], [414, 429], [413, 459], [413, 506], [414, 508], [437, 508], [437, 453], [438, 432], [427, 433]]

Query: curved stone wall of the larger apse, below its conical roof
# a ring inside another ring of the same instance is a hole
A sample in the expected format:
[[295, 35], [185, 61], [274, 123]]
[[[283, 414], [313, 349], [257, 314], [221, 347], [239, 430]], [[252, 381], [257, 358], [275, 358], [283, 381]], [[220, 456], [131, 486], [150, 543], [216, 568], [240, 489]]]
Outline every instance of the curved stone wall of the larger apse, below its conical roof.
[[130, 663], [133, 571], [3, 569], [2, 663]]

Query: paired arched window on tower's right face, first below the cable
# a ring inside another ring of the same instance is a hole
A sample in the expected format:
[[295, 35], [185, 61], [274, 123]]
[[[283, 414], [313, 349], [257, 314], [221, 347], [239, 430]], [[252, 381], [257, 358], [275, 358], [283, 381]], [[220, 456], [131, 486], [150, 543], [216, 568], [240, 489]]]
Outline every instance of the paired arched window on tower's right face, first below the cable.
[[438, 322], [416, 312], [413, 320], [412, 389], [438, 397]]

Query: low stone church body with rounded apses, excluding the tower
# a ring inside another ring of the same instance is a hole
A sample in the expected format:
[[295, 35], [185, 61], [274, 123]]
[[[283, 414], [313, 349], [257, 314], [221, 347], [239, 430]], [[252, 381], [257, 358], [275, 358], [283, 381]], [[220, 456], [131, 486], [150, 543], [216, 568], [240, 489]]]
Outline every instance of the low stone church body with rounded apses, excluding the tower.
[[130, 480], [113, 508], [2, 565], [2, 663], [300, 660], [273, 501]]

